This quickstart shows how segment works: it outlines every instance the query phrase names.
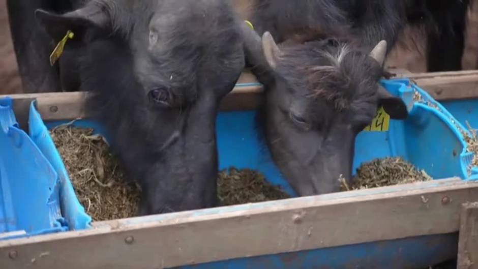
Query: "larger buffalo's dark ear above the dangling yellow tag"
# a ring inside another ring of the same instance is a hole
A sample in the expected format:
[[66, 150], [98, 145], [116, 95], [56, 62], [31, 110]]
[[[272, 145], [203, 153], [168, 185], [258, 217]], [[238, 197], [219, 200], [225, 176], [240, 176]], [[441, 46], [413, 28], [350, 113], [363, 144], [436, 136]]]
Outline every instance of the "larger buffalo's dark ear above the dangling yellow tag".
[[83, 40], [89, 30], [104, 32], [111, 23], [108, 12], [94, 3], [63, 15], [37, 9], [35, 17], [55, 41], [61, 40], [69, 30], [75, 39]]

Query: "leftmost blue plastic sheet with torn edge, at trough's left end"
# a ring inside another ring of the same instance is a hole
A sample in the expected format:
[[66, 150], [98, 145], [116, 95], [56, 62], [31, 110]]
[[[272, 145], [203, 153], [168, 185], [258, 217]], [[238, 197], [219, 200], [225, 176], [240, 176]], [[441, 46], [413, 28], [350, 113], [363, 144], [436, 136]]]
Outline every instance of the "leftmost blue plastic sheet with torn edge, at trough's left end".
[[[58, 175], [35, 142], [19, 129], [12, 100], [0, 99], [0, 235], [2, 239], [65, 231]], [[23, 231], [21, 235], [9, 232]]]

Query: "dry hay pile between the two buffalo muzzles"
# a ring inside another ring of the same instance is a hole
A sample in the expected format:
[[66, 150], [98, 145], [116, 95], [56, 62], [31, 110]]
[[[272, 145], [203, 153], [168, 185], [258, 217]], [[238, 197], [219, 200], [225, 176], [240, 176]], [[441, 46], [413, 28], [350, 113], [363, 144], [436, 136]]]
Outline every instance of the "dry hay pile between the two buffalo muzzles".
[[218, 177], [218, 198], [221, 205], [263, 202], [289, 198], [280, 187], [265, 181], [264, 176], [253, 170], [224, 170]]

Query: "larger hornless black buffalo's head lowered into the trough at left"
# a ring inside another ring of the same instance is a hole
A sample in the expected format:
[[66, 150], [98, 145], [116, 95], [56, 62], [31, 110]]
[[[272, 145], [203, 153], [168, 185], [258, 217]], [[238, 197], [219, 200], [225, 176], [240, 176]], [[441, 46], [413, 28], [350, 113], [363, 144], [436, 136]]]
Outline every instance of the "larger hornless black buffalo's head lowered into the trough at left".
[[59, 80], [92, 93], [88, 111], [143, 190], [141, 214], [216, 205], [216, 114], [244, 68], [229, 5], [103, 0], [36, 16], [55, 42], [75, 33]]

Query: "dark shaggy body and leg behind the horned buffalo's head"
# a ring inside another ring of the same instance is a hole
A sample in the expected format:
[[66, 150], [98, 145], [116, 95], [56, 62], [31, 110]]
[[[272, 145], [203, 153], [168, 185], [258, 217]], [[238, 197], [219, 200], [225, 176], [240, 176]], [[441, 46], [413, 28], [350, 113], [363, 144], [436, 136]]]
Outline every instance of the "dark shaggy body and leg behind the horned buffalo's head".
[[[461, 69], [465, 14], [469, 0], [233, 0], [235, 9], [262, 35], [268, 31], [281, 43], [306, 28], [346, 29], [371, 49], [380, 40], [387, 51], [406, 25], [427, 37], [428, 70]], [[440, 55], [440, 57], [436, 57]]]

